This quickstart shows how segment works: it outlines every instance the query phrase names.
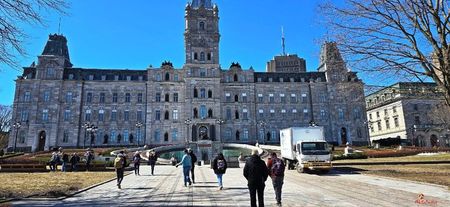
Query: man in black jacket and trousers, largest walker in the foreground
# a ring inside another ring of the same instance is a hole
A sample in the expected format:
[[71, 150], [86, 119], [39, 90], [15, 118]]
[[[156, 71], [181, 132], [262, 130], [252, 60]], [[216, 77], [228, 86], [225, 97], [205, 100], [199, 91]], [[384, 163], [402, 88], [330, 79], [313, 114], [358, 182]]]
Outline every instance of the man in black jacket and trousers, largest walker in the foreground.
[[247, 160], [244, 167], [244, 177], [248, 182], [248, 190], [250, 191], [250, 205], [256, 207], [256, 192], [258, 192], [259, 207], [264, 206], [264, 188], [269, 170], [266, 163], [261, 160], [258, 151], [254, 150], [252, 156]]

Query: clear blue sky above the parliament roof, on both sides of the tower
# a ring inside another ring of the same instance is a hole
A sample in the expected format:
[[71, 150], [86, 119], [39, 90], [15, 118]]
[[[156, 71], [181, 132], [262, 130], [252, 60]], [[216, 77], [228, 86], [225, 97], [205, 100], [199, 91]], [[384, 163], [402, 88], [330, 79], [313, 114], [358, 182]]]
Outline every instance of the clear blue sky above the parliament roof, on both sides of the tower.
[[[184, 8], [187, 0], [70, 1], [69, 15], [61, 17], [61, 33], [68, 39], [74, 67], [145, 69], [164, 60], [181, 68], [184, 63]], [[307, 70], [318, 65], [320, 1], [213, 0], [220, 12], [220, 63], [228, 68], [238, 61], [244, 68], [264, 71], [265, 64], [281, 53], [281, 26], [288, 53], [307, 61]], [[42, 52], [48, 35], [58, 31], [59, 15], [47, 15], [47, 27], [24, 27], [29, 66]], [[10, 105], [14, 79], [20, 72], [1, 66], [0, 104]], [[364, 79], [364, 77], [363, 77]]]

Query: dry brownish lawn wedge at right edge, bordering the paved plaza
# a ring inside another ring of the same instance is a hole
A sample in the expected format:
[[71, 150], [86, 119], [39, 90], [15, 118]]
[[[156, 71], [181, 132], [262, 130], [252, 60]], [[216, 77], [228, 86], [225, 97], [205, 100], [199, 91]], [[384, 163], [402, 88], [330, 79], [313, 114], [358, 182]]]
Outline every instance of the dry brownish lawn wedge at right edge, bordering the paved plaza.
[[362, 174], [379, 175], [447, 186], [450, 190], [450, 164], [351, 166]]

